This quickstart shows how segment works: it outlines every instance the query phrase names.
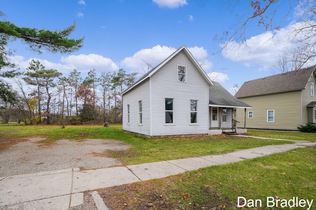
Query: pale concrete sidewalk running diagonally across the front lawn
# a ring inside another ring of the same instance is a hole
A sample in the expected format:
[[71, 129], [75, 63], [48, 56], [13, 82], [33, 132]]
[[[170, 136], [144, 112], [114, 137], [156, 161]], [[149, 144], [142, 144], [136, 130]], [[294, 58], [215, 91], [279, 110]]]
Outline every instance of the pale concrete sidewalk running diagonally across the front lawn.
[[[260, 157], [295, 148], [316, 146], [316, 142], [265, 146], [220, 155], [80, 171], [79, 168], [0, 178], [0, 209], [67, 210], [83, 203], [83, 192], [122, 184], [159, 179]], [[99, 210], [107, 210], [96, 191], [91, 193]], [[97, 204], [98, 203], [98, 204]]]

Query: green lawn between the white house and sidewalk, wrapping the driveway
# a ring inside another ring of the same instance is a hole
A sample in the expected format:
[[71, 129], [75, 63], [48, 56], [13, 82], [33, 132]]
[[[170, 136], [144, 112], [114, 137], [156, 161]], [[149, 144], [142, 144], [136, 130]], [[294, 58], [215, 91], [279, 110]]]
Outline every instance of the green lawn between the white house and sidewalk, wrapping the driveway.
[[[42, 143], [53, 143], [59, 139], [114, 139], [131, 145], [128, 151], [109, 151], [109, 155], [119, 158], [123, 164], [132, 165], [162, 160], [196, 157], [227, 153], [266, 145], [289, 144], [288, 141], [260, 140], [236, 136], [197, 135], [190, 137], [148, 138], [122, 130], [121, 125], [19, 125], [0, 124], [0, 148], [8, 141], [17, 141], [30, 136], [45, 136]], [[10, 133], [11, 132], [11, 133]]]

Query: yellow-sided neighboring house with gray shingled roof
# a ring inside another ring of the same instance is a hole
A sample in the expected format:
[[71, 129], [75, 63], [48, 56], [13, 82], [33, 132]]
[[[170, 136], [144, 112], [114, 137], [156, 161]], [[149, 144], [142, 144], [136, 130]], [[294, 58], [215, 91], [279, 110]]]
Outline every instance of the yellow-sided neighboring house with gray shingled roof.
[[[235, 97], [252, 106], [237, 110], [238, 124], [246, 128], [298, 130], [316, 123], [316, 66], [243, 83]], [[246, 123], [244, 121], [246, 120]]]

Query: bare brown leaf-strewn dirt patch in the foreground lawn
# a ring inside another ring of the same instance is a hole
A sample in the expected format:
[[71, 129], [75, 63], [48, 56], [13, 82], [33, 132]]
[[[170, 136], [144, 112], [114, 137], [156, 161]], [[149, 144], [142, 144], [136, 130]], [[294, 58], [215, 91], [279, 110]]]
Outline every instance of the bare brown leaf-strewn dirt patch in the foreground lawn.
[[[180, 192], [174, 185], [178, 176], [124, 184], [97, 190], [110, 210], [224, 210], [237, 209], [237, 203], [227, 196], [219, 196], [208, 186], [199, 188], [202, 201]], [[235, 199], [236, 200], [236, 199]]]

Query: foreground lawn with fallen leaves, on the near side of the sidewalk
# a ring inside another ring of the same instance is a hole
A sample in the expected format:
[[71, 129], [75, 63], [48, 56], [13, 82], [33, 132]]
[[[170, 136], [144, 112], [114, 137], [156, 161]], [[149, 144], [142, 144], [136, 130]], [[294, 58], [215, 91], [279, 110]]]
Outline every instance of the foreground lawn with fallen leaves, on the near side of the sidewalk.
[[[99, 192], [110, 209], [118, 210], [150, 209], [149, 205], [151, 209], [236, 210], [237, 197], [262, 201], [261, 207], [246, 209], [272, 210], [280, 206], [267, 208], [267, 197], [315, 200], [315, 174], [316, 148], [309, 147]], [[314, 201], [311, 210], [315, 209]]]

